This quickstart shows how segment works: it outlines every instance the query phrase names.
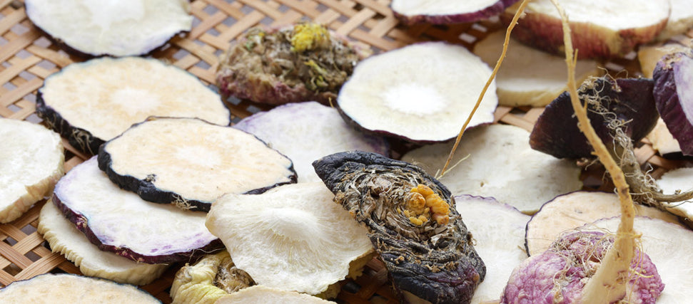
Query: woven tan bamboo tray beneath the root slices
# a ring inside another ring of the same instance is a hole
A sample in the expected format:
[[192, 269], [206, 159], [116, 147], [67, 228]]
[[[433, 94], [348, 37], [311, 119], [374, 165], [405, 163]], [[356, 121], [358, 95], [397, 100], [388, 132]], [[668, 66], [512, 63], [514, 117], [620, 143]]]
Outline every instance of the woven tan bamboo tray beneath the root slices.
[[[393, 17], [389, 3], [389, 0], [196, 0], [191, 2], [191, 13], [195, 16], [192, 31], [176, 36], [151, 56], [184, 68], [213, 86], [218, 57], [234, 38], [258, 24], [279, 26], [310, 19], [363, 43], [375, 53], [428, 40], [449, 41], [470, 48], [490, 31], [502, 27], [493, 20], [455, 26], [406, 27]], [[604, 66], [614, 74], [627, 70], [629, 75], [637, 75], [639, 65], [634, 59], [633, 53]], [[0, 0], [0, 116], [40, 123], [41, 119], [35, 114], [36, 90], [48, 75], [70, 63], [84, 60], [69, 56], [42, 36], [27, 19], [23, 1]], [[229, 100], [228, 106], [234, 121], [268, 109], [268, 106], [240, 100]], [[495, 119], [498, 123], [531, 130], [542, 110], [500, 107]], [[66, 140], [63, 142], [66, 147], [65, 169], [68, 171], [87, 156]], [[395, 155], [407, 149], [405, 145], [395, 147]], [[657, 156], [647, 142], [639, 145], [637, 156], [642, 164], [652, 166], [655, 176], [681, 165]], [[583, 179], [586, 189], [603, 187], [599, 168], [585, 172]], [[36, 204], [20, 219], [0, 225], [0, 286], [41, 273], [79, 273], [73, 263], [59, 253], [51, 253], [36, 232], [43, 204], [45, 201]], [[142, 288], [164, 303], [170, 303], [168, 289], [180, 266], [174, 265], [162, 278]], [[343, 290], [338, 296], [340, 303], [398, 303], [390, 289], [383, 263], [375, 259], [358, 280], [343, 281], [342, 285]]]

